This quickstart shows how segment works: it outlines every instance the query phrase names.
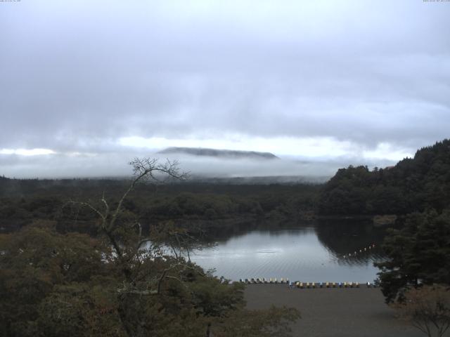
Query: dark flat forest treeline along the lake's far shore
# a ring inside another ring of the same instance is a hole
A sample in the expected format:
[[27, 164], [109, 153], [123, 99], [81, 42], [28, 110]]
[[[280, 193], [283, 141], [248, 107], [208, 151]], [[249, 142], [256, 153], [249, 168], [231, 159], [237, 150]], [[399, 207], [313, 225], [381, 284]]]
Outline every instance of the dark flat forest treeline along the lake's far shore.
[[[74, 210], [68, 201], [96, 201], [103, 193], [117, 200], [129, 180], [0, 179], [0, 229], [11, 232], [33, 220], [56, 220], [60, 231], [92, 233], [96, 217]], [[296, 221], [315, 213], [319, 185], [215, 185], [205, 183], [141, 184], [124, 209], [145, 230], [161, 221], [202, 230], [266, 218]]]

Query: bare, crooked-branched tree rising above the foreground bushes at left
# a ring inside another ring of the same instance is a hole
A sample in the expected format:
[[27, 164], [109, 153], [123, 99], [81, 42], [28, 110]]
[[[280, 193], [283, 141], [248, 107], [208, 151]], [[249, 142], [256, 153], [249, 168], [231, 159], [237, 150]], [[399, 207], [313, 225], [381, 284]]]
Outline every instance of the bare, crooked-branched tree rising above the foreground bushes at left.
[[[103, 192], [98, 201], [70, 203], [90, 209], [98, 216], [98, 230], [105, 235], [113, 252], [109, 258], [124, 276], [117, 289], [122, 325], [129, 336], [146, 336], [142, 328], [145, 326], [145, 317], [141, 314], [143, 296], [159, 296], [165, 279], [176, 279], [184, 285], [181, 275], [186, 270], [198, 272], [199, 269], [178, 256], [166, 256], [158, 242], [143, 234], [139, 219], [130, 218], [124, 209], [124, 201], [139, 183], [160, 183], [167, 178], [181, 180], [188, 173], [180, 171], [177, 161], [159, 164], [158, 159], [135, 158], [129, 164], [134, 176], [118, 201], [108, 201]], [[179, 234], [176, 232], [176, 237]]]

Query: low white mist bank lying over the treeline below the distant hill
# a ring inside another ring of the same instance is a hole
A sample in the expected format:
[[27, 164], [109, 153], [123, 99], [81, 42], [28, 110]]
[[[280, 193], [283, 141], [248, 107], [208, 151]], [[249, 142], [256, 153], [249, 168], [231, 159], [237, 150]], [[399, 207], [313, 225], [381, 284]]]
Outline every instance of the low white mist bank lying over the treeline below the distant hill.
[[191, 173], [192, 177], [233, 178], [262, 176], [302, 176], [330, 177], [350, 164], [385, 167], [396, 161], [361, 161], [352, 157], [335, 159], [302, 159], [281, 157], [281, 159], [222, 159], [198, 157], [186, 154], [158, 154], [156, 152], [115, 152], [101, 154], [43, 154], [21, 156], [0, 154], [0, 175], [10, 178], [98, 178], [131, 176], [127, 164], [134, 157], [158, 158], [179, 161], [180, 169]]

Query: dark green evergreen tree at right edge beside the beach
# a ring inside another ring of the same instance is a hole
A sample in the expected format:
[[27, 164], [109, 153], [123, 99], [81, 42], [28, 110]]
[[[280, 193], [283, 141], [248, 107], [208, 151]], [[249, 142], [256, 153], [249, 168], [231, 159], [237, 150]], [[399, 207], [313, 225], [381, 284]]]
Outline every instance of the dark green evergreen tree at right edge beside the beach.
[[404, 299], [421, 284], [450, 284], [450, 210], [412, 213], [401, 230], [390, 230], [383, 249], [388, 259], [375, 263], [386, 302]]

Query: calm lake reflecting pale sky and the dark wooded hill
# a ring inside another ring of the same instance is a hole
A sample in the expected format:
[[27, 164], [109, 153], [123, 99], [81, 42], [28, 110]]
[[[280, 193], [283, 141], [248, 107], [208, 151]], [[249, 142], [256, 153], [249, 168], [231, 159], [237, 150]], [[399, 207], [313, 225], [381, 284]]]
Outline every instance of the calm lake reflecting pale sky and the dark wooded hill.
[[216, 246], [193, 252], [191, 260], [234, 281], [373, 282], [378, 272], [373, 262], [384, 258], [383, 235], [384, 230], [358, 222], [266, 225], [219, 237]]

